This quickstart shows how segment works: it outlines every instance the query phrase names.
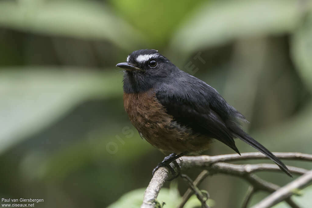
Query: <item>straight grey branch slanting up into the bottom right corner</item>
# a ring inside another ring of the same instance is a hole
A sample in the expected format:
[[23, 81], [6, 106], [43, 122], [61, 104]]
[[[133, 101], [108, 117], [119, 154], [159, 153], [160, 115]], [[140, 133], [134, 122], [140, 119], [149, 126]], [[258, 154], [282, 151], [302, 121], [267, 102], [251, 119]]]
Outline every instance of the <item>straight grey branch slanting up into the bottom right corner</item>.
[[270, 196], [266, 197], [252, 208], [267, 208], [276, 205], [294, 194], [294, 190], [305, 187], [312, 182], [312, 170], [308, 171], [305, 175], [290, 182], [286, 186], [275, 191]]

